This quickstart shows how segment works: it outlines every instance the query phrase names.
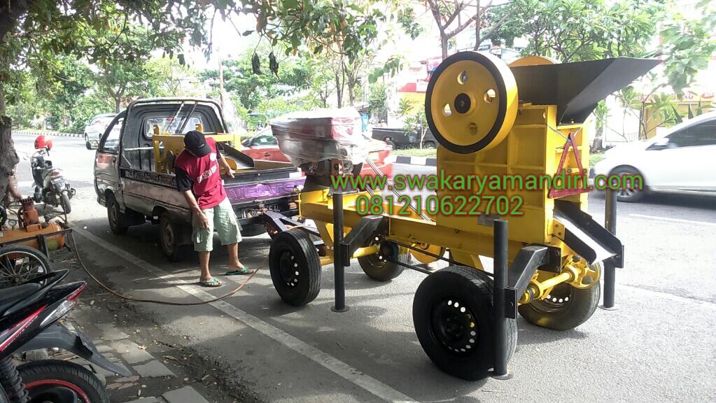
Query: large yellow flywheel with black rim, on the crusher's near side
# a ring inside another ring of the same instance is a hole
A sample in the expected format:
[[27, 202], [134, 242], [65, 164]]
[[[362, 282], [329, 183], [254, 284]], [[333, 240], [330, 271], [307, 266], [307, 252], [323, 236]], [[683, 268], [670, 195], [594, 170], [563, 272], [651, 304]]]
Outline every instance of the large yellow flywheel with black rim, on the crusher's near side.
[[469, 154], [489, 150], [517, 116], [517, 84], [498, 57], [458, 52], [435, 69], [425, 93], [427, 125], [440, 145]]

